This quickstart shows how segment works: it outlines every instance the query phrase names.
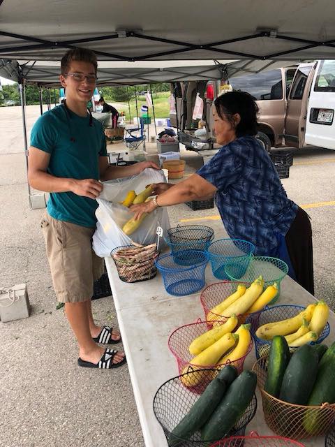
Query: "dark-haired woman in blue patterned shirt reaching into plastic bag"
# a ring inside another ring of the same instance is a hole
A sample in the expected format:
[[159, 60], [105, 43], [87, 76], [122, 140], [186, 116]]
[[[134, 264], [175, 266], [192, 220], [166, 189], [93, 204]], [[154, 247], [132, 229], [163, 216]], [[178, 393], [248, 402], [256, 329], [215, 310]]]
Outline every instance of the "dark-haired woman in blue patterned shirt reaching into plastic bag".
[[133, 205], [138, 219], [156, 207], [215, 196], [228, 234], [255, 244], [255, 255], [281, 258], [290, 277], [314, 293], [312, 230], [308, 215], [288, 196], [257, 133], [258, 106], [232, 91], [214, 101], [219, 152], [177, 185], [156, 184], [154, 200]]

